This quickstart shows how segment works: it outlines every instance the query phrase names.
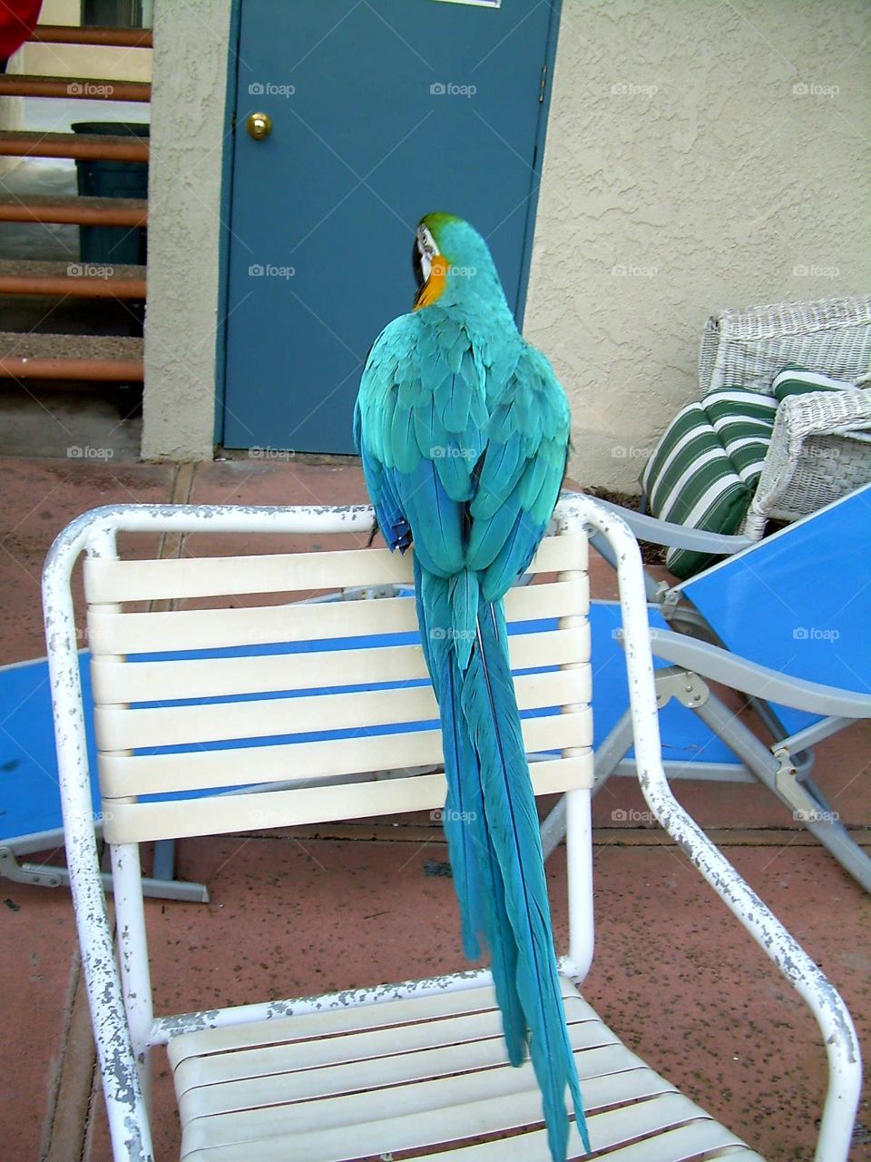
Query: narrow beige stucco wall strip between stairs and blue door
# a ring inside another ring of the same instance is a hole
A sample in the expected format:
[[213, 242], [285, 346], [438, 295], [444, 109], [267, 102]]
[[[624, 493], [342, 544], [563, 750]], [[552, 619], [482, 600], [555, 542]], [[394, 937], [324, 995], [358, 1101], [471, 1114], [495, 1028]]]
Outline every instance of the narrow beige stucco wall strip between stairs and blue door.
[[229, 37], [229, 0], [154, 6], [145, 459], [213, 454]]

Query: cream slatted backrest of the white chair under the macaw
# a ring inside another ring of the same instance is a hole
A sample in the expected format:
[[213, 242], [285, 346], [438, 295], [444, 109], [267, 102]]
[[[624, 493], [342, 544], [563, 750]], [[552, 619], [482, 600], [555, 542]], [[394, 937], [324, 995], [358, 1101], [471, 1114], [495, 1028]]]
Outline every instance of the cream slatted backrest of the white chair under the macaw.
[[[585, 568], [583, 535], [546, 538], [531, 572], [556, 578], [506, 598], [526, 745], [556, 752], [533, 767], [537, 794], [592, 786]], [[375, 548], [170, 560], [91, 553], [106, 839], [440, 808], [438, 708], [413, 598], [310, 601], [312, 591], [411, 580], [409, 557]], [[143, 602], [158, 608], [142, 611]], [[384, 770], [411, 774], [379, 779]]]

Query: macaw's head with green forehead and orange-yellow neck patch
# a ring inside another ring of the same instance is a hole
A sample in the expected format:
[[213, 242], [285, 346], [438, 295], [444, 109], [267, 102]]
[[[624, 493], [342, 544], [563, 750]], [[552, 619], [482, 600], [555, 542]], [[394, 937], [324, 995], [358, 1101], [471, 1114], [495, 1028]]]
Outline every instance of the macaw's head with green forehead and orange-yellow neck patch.
[[446, 307], [470, 306], [475, 300], [505, 304], [487, 243], [453, 214], [427, 214], [420, 220], [411, 265], [418, 287], [415, 310], [434, 302]]

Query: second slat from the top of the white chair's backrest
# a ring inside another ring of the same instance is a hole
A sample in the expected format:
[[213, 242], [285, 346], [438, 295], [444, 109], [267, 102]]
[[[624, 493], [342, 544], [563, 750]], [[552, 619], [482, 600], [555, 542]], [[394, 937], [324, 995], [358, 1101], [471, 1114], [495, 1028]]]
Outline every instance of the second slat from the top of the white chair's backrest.
[[[586, 578], [578, 575], [570, 581], [511, 589], [505, 597], [505, 611], [512, 622], [552, 619], [584, 614], [588, 600]], [[153, 614], [117, 614], [99, 605], [88, 609], [93, 654], [219, 650], [416, 631], [417, 615], [411, 598]]]

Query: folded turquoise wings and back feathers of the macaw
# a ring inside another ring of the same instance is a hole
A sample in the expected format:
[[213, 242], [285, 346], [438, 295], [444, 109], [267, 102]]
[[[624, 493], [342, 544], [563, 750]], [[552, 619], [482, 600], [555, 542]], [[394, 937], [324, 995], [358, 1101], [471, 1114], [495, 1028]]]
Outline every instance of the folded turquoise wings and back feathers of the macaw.
[[527, 567], [550, 521], [569, 408], [530, 344], [519, 340], [512, 374], [496, 390], [489, 350], [475, 351], [459, 329], [446, 361], [438, 346], [446, 330], [417, 314], [384, 328], [360, 385], [357, 444], [390, 547], [408, 547], [399, 541], [413, 528], [431, 572], [482, 573], [492, 601]]

